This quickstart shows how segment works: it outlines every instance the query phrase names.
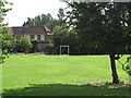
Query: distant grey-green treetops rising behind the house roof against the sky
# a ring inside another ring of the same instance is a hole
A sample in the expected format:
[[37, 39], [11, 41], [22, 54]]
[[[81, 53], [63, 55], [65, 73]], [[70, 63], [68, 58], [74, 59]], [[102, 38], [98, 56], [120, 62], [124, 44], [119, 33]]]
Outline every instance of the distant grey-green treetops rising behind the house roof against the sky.
[[59, 9], [58, 17], [59, 17], [58, 20], [53, 19], [50, 13], [39, 14], [33, 19], [27, 17], [27, 22], [24, 22], [23, 26], [47, 26], [48, 28], [53, 30], [53, 28], [56, 26], [60, 26], [60, 25], [64, 24], [63, 9]]

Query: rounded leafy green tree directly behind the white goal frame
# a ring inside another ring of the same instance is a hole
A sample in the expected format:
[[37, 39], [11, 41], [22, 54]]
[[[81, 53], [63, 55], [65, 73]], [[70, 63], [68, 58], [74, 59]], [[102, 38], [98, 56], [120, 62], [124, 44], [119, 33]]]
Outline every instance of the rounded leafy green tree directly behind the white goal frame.
[[76, 32], [69, 30], [67, 25], [56, 26], [53, 30], [53, 44], [55, 48], [62, 45], [69, 45], [70, 53], [79, 53], [79, 36]]

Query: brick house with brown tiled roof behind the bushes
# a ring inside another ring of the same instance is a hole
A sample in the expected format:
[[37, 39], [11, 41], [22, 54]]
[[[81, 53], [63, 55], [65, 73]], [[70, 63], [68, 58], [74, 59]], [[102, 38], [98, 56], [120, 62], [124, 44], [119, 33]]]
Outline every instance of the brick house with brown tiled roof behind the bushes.
[[29, 39], [38, 40], [40, 51], [45, 51], [45, 42], [52, 39], [53, 36], [52, 32], [46, 26], [13, 26], [9, 27], [9, 33], [16, 40], [23, 35], [26, 35]]

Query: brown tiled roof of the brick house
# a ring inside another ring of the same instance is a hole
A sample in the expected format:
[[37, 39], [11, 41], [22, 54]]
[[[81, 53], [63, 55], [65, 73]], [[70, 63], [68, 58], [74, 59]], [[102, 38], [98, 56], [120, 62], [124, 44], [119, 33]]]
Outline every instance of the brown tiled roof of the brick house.
[[46, 26], [15, 26], [9, 28], [13, 35], [52, 35]]

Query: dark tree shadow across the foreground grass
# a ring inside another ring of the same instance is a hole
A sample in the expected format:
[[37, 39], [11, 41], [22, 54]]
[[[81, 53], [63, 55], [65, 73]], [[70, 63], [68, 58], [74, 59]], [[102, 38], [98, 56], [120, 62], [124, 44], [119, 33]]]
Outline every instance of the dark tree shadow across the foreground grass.
[[29, 87], [25, 88], [4, 89], [3, 96], [129, 96], [129, 87], [29, 84]]

